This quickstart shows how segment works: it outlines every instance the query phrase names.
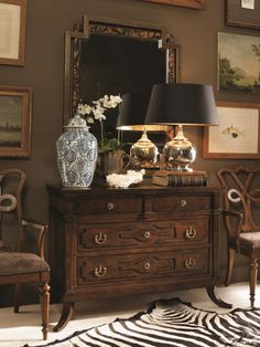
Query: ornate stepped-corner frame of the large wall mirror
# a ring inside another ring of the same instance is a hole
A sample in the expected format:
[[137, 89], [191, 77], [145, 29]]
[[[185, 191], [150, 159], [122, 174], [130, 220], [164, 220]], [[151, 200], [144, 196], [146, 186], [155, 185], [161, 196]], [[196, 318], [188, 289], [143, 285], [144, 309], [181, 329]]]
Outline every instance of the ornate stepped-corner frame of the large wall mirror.
[[177, 82], [180, 49], [164, 28], [84, 15], [83, 24], [75, 24], [74, 30], [65, 34], [64, 124], [75, 114], [80, 99], [80, 53], [90, 35], [155, 42], [158, 49], [165, 52], [165, 76], [160, 83]]

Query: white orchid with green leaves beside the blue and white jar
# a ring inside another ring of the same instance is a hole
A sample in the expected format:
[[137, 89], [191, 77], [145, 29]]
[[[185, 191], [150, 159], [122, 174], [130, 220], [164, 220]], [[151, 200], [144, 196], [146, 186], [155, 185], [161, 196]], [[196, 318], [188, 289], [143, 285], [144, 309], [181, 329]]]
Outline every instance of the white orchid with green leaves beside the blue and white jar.
[[106, 120], [106, 111], [116, 108], [121, 102], [122, 99], [119, 95], [105, 95], [104, 97], [93, 102], [93, 106], [83, 103], [79, 103], [77, 106], [77, 113], [86, 119], [87, 124], [95, 124], [95, 120], [99, 123], [99, 150], [102, 153], [120, 148], [120, 141], [118, 138], [107, 139], [104, 122]]

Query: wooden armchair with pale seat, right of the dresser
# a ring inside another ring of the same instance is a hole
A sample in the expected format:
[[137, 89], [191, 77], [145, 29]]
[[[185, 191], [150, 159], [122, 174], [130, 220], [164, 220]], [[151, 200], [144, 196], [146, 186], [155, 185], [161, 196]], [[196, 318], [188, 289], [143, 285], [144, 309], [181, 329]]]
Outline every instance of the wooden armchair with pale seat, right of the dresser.
[[254, 294], [260, 259], [260, 169], [238, 167], [220, 169], [217, 178], [226, 187], [225, 210], [241, 213], [236, 225], [230, 215], [225, 214], [225, 225], [228, 231], [228, 271], [226, 285], [232, 275], [235, 253], [249, 259], [249, 285], [251, 307], [254, 305]]

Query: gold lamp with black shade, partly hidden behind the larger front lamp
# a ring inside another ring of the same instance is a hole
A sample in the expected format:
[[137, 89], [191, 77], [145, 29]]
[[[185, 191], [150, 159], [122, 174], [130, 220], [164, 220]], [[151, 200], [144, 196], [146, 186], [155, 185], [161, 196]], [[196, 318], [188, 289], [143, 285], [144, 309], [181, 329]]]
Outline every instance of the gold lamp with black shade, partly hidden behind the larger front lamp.
[[142, 132], [141, 138], [130, 148], [131, 160], [136, 164], [154, 164], [158, 159], [158, 147], [148, 138], [148, 132], [165, 130], [165, 125], [147, 124], [150, 93], [127, 93], [122, 95], [117, 128], [119, 130]]

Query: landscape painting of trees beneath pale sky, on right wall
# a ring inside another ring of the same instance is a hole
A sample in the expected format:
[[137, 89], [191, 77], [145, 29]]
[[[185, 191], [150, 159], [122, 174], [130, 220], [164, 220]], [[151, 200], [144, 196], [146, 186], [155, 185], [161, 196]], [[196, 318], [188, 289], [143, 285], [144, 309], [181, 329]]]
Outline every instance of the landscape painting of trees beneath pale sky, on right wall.
[[218, 33], [218, 90], [260, 94], [260, 38]]

